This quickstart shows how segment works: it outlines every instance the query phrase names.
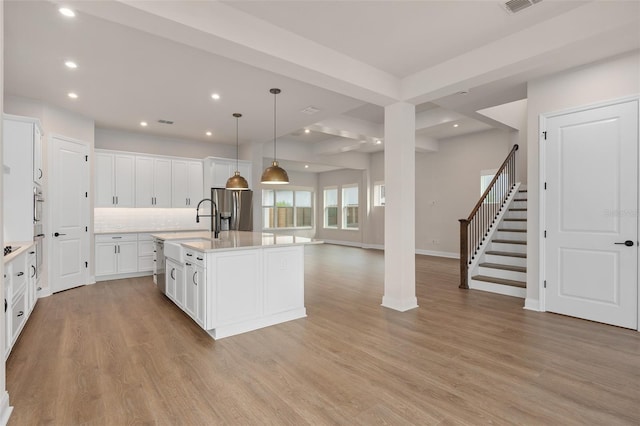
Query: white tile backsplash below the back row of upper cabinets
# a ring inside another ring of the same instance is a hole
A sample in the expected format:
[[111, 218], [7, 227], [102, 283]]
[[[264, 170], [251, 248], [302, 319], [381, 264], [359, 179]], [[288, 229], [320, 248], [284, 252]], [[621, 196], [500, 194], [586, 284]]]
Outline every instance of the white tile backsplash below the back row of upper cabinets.
[[94, 209], [95, 233], [208, 229], [209, 218], [196, 223], [195, 209]]

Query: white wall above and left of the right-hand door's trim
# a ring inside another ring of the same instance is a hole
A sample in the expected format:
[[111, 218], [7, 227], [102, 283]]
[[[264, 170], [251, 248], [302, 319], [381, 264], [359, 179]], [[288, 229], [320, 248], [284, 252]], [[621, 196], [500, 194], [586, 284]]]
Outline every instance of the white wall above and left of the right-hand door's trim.
[[638, 51], [529, 82], [526, 308], [538, 309], [540, 300], [540, 115], [639, 93]]

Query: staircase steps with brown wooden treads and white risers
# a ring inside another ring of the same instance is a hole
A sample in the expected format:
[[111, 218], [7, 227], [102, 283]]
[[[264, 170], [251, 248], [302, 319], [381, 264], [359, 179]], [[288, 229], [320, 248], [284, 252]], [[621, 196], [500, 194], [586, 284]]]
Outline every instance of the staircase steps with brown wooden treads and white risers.
[[526, 297], [527, 190], [518, 189], [470, 268], [469, 288]]

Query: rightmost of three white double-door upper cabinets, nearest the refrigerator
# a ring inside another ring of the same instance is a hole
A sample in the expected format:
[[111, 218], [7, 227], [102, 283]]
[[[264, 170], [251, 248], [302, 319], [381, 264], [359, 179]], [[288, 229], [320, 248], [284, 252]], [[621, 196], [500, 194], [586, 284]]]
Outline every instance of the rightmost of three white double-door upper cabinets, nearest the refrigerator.
[[203, 198], [202, 161], [173, 160], [171, 205], [195, 207]]

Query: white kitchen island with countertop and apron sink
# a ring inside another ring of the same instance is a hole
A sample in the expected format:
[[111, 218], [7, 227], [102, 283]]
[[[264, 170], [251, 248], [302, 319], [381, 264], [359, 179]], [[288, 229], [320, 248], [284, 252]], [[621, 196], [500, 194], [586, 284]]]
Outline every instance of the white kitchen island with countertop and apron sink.
[[165, 294], [214, 339], [306, 316], [304, 246], [321, 241], [244, 231], [152, 236], [164, 242]]

